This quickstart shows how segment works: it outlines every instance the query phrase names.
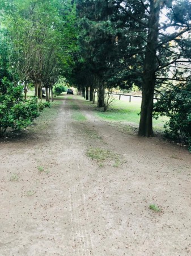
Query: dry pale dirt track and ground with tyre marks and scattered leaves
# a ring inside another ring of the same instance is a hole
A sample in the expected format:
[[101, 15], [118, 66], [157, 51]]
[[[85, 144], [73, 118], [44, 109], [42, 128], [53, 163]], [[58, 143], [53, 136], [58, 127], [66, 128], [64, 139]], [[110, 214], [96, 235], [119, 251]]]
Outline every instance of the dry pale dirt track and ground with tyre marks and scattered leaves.
[[189, 152], [57, 103], [0, 141], [0, 255], [191, 255]]

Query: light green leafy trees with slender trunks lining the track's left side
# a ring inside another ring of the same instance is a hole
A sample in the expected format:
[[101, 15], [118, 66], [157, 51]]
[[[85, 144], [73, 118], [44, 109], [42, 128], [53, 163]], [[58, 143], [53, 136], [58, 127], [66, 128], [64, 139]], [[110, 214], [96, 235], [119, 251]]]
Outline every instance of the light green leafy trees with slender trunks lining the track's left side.
[[[7, 70], [15, 85], [29, 84], [35, 96], [46, 88], [49, 101], [53, 85], [67, 71], [75, 51], [75, 9], [61, 0], [2, 1], [1, 38], [6, 40]], [[6, 75], [6, 74], [4, 74]]]

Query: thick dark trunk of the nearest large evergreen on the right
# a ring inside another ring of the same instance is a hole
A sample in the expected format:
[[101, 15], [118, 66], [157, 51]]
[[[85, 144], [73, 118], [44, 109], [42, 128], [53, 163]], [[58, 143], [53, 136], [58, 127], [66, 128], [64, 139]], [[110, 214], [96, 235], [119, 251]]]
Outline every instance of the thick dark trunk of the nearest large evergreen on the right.
[[143, 67], [141, 119], [138, 135], [150, 137], [152, 131], [152, 110], [156, 79], [156, 50], [159, 35], [160, 1], [150, 0], [150, 17], [148, 19], [147, 48]]

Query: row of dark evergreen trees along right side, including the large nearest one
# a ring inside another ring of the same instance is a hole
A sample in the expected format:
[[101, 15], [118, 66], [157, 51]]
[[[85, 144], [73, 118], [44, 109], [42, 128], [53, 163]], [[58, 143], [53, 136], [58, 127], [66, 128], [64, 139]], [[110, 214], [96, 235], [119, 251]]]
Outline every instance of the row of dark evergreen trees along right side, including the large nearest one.
[[152, 136], [154, 94], [190, 77], [191, 3], [182, 0], [77, 0], [79, 51], [71, 81], [82, 91], [133, 84], [142, 90], [139, 135]]

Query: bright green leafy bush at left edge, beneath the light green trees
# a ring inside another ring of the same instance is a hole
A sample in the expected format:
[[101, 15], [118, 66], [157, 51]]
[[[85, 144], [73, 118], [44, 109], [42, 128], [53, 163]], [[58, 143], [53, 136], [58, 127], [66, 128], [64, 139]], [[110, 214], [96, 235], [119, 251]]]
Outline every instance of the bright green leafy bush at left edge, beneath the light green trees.
[[40, 114], [37, 98], [24, 100], [22, 92], [22, 86], [14, 86], [6, 79], [0, 84], [0, 137], [8, 127], [15, 130], [27, 127]]

